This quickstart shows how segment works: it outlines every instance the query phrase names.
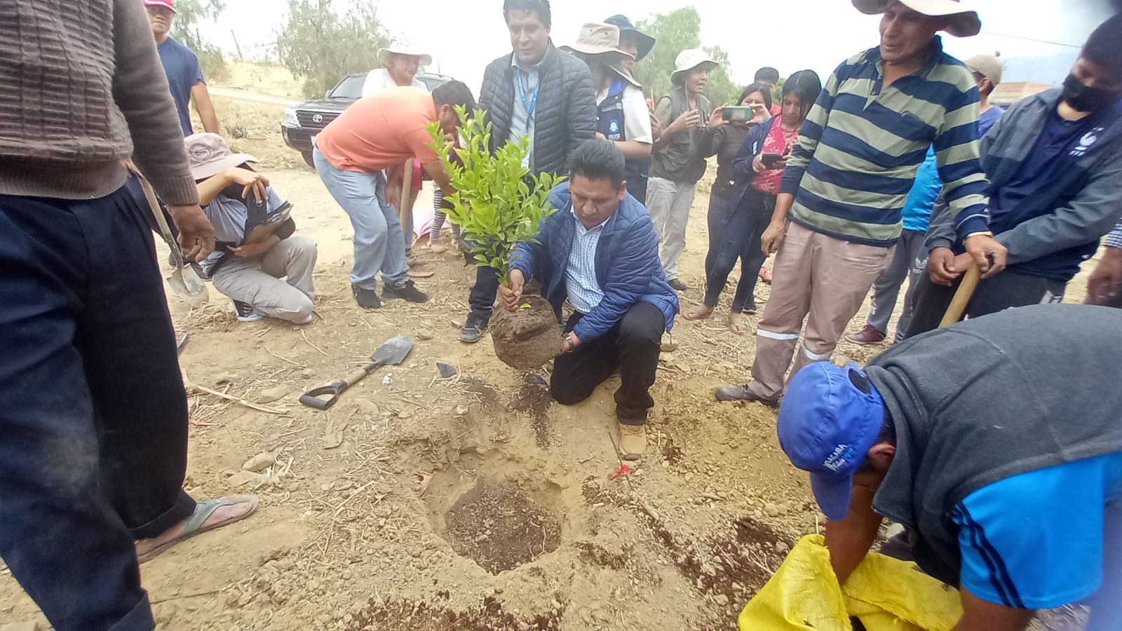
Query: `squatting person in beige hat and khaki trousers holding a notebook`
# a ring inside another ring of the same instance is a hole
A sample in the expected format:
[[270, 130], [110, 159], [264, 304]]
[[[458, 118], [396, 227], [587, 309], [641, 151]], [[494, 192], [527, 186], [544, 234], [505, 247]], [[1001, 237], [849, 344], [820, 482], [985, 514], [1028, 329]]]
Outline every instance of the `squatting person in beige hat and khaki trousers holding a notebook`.
[[184, 143], [199, 203], [214, 225], [214, 252], [202, 262], [203, 274], [233, 301], [241, 322], [311, 322], [315, 241], [294, 234], [292, 204], [254, 171], [257, 158], [231, 152], [218, 134], [195, 134]]

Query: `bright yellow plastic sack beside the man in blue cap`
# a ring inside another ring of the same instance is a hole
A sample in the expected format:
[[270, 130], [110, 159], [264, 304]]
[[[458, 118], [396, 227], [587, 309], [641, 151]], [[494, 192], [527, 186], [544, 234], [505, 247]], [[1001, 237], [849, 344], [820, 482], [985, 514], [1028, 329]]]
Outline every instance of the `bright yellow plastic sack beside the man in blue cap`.
[[950, 631], [963, 615], [958, 592], [914, 564], [875, 552], [838, 586], [820, 534], [791, 550], [738, 619], [741, 631]]

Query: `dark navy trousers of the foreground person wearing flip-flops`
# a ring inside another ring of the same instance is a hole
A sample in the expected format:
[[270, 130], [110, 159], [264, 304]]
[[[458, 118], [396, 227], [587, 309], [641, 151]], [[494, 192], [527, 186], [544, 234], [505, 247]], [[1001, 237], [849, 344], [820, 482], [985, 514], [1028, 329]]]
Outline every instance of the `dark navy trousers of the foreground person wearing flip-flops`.
[[153, 629], [134, 540], [195, 506], [147, 214], [0, 195], [0, 557], [59, 631]]

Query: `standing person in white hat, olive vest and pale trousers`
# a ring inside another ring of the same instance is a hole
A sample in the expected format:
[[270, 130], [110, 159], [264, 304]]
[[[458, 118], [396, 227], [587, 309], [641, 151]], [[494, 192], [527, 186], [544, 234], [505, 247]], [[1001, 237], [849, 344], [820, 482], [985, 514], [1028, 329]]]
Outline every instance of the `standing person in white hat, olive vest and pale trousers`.
[[717, 62], [700, 48], [682, 51], [670, 75], [670, 94], [659, 99], [654, 116], [662, 125], [662, 135], [654, 144], [651, 180], [647, 182], [646, 209], [659, 234], [662, 268], [670, 286], [686, 291], [678, 278], [678, 259], [686, 252], [686, 225], [698, 180], [705, 175], [706, 162], [701, 149], [712, 141], [712, 131], [720, 127], [725, 108], [716, 110], [705, 98], [709, 72]]

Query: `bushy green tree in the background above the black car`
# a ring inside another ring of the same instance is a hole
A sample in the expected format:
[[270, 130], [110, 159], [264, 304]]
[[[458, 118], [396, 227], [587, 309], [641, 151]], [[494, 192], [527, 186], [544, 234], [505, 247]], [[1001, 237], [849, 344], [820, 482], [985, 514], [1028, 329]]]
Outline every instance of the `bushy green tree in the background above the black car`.
[[389, 36], [377, 11], [366, 3], [288, 0], [288, 22], [277, 34], [280, 64], [304, 80], [304, 95], [322, 98], [342, 77], [378, 67], [378, 48]]

